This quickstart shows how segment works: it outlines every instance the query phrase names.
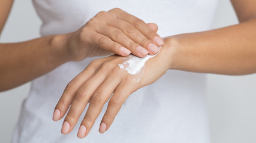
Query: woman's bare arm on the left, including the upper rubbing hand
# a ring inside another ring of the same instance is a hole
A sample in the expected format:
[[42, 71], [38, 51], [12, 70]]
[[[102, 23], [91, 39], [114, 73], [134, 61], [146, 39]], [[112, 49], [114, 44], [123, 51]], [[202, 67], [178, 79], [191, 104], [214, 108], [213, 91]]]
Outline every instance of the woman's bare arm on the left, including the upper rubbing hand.
[[[12, 4], [13, 1], [0, 2], [0, 30]], [[0, 91], [29, 82], [68, 61], [82, 61], [112, 52], [121, 56], [132, 53], [138, 57], [156, 54], [158, 46], [164, 43], [152, 30], [156, 27], [114, 8], [101, 11], [75, 32], [26, 42], [0, 43]]]

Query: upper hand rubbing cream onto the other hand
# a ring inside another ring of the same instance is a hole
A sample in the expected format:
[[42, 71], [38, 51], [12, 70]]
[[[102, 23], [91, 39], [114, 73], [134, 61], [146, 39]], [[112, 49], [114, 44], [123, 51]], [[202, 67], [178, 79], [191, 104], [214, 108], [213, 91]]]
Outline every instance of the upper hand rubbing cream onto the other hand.
[[146, 24], [134, 15], [114, 8], [101, 11], [79, 30], [62, 37], [66, 39], [65, 52], [72, 61], [110, 52], [121, 56], [132, 53], [145, 57], [156, 54], [158, 46], [164, 44], [156, 31], [156, 24]]

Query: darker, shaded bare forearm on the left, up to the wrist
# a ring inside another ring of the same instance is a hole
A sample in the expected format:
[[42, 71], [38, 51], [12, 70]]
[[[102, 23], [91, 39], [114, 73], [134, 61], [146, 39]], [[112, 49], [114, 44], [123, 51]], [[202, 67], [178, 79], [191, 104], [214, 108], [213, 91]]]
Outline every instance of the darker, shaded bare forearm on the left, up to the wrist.
[[61, 36], [0, 43], [0, 91], [42, 76], [67, 62]]

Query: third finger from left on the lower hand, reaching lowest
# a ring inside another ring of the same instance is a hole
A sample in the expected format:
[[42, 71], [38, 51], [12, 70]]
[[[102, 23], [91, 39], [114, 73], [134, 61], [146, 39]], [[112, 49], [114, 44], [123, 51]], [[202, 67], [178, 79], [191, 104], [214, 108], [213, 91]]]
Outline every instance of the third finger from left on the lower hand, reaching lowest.
[[[92, 95], [88, 110], [77, 133], [79, 138], [84, 138], [88, 135], [92, 126], [94, 126], [95, 120], [103, 109], [103, 105], [109, 100], [119, 83], [120, 79], [116, 78], [116, 76], [107, 77], [103, 84], [95, 91], [94, 95]], [[84, 128], [86, 130], [83, 130]]]

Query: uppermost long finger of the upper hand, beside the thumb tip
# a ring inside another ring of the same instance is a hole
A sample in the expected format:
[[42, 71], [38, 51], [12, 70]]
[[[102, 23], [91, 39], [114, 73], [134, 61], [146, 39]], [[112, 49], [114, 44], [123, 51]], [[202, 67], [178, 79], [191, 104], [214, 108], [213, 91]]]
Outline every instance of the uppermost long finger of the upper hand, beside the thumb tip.
[[134, 15], [128, 14], [120, 8], [114, 8], [110, 10], [110, 13], [116, 15], [117, 18], [127, 21], [128, 23], [135, 26], [138, 30], [140, 30], [143, 35], [147, 38], [155, 42], [158, 46], [164, 45], [163, 39], [156, 34], [143, 20], [135, 17]]

